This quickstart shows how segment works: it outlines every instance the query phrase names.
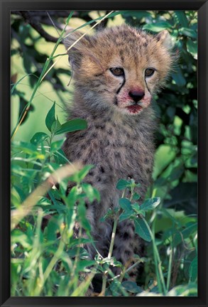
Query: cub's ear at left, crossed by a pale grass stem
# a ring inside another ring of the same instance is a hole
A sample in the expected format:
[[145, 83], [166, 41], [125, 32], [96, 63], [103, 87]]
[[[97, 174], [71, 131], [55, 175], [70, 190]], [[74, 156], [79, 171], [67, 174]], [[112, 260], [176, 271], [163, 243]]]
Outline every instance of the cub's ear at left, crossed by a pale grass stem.
[[63, 43], [69, 55], [70, 63], [73, 67], [79, 67], [82, 56], [84, 53], [89, 52], [89, 48], [93, 42], [91, 36], [85, 35], [82, 37], [82, 33], [75, 31], [68, 33]]

